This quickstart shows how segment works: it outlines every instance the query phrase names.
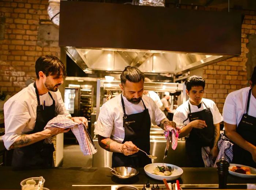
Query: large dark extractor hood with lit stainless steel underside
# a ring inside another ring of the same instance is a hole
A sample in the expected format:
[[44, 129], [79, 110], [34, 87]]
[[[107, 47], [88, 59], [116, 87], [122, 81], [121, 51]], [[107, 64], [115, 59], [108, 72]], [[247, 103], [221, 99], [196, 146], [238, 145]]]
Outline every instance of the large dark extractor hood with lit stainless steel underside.
[[59, 44], [84, 71], [177, 74], [240, 55], [241, 15], [61, 1]]

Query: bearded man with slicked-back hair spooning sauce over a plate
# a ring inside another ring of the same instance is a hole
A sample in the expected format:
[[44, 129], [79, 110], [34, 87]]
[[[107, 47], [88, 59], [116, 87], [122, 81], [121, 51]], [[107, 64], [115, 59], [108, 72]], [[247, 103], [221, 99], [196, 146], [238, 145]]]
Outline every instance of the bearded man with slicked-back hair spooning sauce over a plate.
[[94, 132], [99, 145], [113, 152], [112, 167], [144, 167], [151, 159], [138, 148], [149, 154], [151, 122], [166, 131], [176, 124], [143, 95], [144, 74], [138, 68], [127, 66], [120, 78], [123, 92], [102, 105]]

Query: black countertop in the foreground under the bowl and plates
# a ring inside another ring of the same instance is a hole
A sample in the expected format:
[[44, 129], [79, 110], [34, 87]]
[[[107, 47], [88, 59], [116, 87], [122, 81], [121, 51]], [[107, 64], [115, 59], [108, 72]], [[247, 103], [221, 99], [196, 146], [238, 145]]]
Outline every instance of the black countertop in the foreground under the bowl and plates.
[[[218, 173], [216, 168], [182, 168], [183, 174], [180, 184], [218, 184]], [[119, 179], [113, 176], [109, 168], [52, 168], [45, 170], [13, 171], [11, 167], [0, 167], [0, 189], [21, 189], [20, 182], [30, 177], [43, 176], [44, 187], [54, 189], [106, 189], [110, 186], [123, 184], [145, 184], [147, 180], [151, 184], [163, 184], [147, 176], [143, 168], [139, 168], [139, 174], [129, 179]], [[173, 181], [170, 181], [173, 182]], [[228, 175], [229, 184], [256, 183], [256, 178], [244, 179]], [[72, 186], [72, 185], [98, 185], [98, 186]]]

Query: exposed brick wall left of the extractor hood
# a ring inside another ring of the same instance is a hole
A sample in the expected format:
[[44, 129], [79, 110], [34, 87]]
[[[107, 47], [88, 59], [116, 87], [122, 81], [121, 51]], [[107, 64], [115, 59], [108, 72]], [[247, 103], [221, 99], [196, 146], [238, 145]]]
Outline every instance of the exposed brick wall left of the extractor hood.
[[[4, 39], [0, 40], [0, 91], [15, 94], [25, 81], [35, 79], [35, 61], [43, 54], [60, 57], [58, 43], [38, 43], [39, 27], [52, 25], [48, 0], [1, 0], [0, 16], [5, 18]], [[49, 34], [49, 39], [51, 39]], [[46, 39], [47, 40], [47, 39]]]

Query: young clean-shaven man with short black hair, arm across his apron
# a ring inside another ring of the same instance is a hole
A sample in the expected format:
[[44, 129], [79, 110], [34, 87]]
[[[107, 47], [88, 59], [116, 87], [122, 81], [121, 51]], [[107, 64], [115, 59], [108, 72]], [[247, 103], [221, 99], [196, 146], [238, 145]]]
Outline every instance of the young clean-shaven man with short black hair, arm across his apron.
[[218, 155], [219, 123], [222, 116], [216, 104], [203, 98], [205, 80], [191, 76], [185, 81], [189, 100], [175, 111], [173, 121], [181, 128], [179, 137], [186, 137], [186, 158], [188, 167], [204, 167], [202, 147], [210, 147], [210, 155]]

